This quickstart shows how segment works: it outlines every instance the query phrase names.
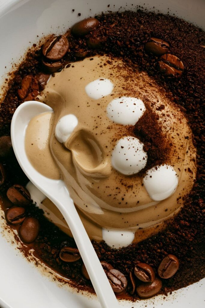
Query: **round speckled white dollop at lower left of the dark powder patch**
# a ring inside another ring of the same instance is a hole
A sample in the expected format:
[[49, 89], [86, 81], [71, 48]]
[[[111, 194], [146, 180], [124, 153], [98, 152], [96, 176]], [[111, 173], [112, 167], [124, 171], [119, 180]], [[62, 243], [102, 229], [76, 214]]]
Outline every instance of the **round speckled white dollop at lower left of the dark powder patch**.
[[112, 167], [125, 175], [138, 173], [147, 163], [147, 154], [143, 146], [139, 139], [132, 136], [118, 140], [112, 151]]

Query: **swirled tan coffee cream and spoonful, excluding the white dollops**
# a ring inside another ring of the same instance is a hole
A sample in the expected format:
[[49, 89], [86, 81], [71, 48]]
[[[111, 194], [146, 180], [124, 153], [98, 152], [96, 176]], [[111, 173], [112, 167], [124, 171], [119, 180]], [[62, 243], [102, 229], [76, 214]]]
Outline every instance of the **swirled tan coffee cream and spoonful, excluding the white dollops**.
[[[195, 148], [185, 117], [164, 90], [145, 72], [134, 72], [120, 59], [113, 58], [109, 63], [107, 60], [105, 56], [95, 56], [91, 61], [88, 58], [51, 77], [39, 100], [52, 107], [54, 113], [39, 115], [30, 122], [26, 152], [39, 172], [64, 179], [91, 239], [103, 239], [103, 228], [135, 233], [132, 241], [138, 242], [162, 229], [164, 221], [183, 205], [183, 197], [190, 192], [195, 178]], [[99, 78], [109, 79], [114, 89], [111, 95], [92, 99], [85, 87]], [[173, 167], [178, 186], [165, 200], [153, 201], [149, 197], [143, 185], [146, 167], [144, 173], [126, 176], [111, 166], [117, 140], [134, 137], [137, 128], [137, 123], [123, 126], [107, 116], [107, 105], [122, 96], [141, 99], [146, 109], [157, 115], [163, 142], [169, 144], [163, 164]], [[70, 114], [77, 117], [78, 124], [69, 138], [60, 143], [55, 127], [63, 116]], [[186, 172], [188, 168], [193, 173]], [[53, 204], [44, 202], [56, 212]], [[62, 219], [61, 215], [56, 217]], [[69, 229], [66, 233], [71, 235]]]

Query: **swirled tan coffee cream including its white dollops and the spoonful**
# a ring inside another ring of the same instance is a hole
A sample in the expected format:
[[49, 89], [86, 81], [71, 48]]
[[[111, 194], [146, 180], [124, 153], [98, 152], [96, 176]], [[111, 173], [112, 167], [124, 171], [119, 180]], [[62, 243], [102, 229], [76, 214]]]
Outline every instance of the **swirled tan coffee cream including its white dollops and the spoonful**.
[[[27, 155], [43, 175], [65, 181], [91, 239], [127, 246], [177, 213], [195, 179], [192, 133], [179, 107], [146, 72], [95, 56], [55, 73], [38, 99], [53, 113], [31, 120]], [[137, 138], [140, 119], [151, 123], [147, 111], [167, 144], [160, 165], [150, 164]], [[43, 205], [70, 235], [55, 206], [48, 199]]]

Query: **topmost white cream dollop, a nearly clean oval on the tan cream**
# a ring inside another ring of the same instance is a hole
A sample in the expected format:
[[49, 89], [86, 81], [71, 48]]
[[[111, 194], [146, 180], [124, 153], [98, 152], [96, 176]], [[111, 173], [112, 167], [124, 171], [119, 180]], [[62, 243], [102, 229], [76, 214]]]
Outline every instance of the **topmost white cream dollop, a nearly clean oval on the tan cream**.
[[85, 86], [85, 92], [92, 99], [99, 99], [111, 94], [113, 87], [114, 85], [109, 79], [99, 78], [88, 83]]

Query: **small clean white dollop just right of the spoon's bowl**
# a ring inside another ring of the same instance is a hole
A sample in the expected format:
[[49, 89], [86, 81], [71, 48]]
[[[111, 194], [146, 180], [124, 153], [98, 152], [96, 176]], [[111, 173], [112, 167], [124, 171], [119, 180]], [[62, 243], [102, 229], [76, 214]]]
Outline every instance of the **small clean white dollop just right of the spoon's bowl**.
[[64, 115], [56, 124], [55, 136], [57, 140], [61, 143], [65, 142], [77, 124], [78, 120], [75, 115]]

